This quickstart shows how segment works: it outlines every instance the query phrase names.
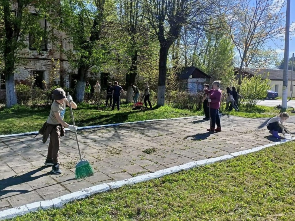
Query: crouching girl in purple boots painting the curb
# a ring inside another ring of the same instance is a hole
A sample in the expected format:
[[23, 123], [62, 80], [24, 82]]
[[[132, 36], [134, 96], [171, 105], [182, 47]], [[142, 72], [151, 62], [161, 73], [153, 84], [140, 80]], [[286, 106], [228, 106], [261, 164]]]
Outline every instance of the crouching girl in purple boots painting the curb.
[[283, 126], [283, 121], [286, 121], [288, 118], [289, 114], [286, 112], [280, 113], [278, 116], [271, 118], [266, 124], [269, 133], [271, 133], [275, 138], [281, 138], [278, 133], [282, 133], [283, 135], [285, 135], [286, 132], [291, 133]]

